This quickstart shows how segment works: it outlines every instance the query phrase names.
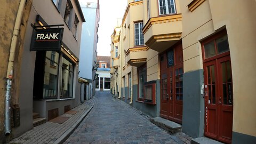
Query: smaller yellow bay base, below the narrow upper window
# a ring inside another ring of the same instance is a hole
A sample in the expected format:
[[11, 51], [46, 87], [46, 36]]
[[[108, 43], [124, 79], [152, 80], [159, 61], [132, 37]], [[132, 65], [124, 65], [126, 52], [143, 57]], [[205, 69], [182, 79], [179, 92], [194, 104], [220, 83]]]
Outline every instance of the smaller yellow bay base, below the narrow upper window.
[[134, 67], [140, 67], [147, 62], [147, 50], [149, 47], [132, 47], [126, 52], [127, 63]]

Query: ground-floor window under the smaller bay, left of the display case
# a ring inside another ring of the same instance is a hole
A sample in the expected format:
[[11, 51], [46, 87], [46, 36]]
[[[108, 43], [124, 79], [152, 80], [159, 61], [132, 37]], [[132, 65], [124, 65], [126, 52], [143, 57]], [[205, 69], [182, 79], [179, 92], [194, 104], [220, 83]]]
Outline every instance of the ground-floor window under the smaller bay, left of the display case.
[[147, 67], [146, 65], [138, 68], [138, 100], [144, 100], [144, 83], [147, 82]]

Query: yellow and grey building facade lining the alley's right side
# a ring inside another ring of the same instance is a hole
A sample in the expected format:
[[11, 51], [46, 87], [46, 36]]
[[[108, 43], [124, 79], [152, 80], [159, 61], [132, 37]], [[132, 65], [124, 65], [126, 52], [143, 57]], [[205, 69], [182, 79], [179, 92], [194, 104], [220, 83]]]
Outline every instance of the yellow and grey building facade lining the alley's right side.
[[112, 93], [193, 138], [255, 142], [255, 8], [253, 0], [128, 1], [111, 36]]

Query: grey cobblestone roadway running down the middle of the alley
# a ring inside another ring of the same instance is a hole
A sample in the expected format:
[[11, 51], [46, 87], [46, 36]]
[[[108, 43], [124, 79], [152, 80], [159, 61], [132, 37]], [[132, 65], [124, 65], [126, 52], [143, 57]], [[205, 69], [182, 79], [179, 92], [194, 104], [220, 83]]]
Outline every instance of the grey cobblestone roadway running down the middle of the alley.
[[93, 109], [64, 143], [190, 143], [188, 135], [171, 135], [149, 118], [109, 92], [97, 92]]

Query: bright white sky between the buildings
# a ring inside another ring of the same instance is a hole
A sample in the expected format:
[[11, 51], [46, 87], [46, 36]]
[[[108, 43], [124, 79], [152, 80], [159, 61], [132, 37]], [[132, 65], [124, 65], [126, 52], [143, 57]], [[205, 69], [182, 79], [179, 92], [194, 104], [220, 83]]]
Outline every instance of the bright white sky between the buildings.
[[[79, 0], [79, 2], [97, 2], [97, 0]], [[127, 6], [127, 0], [99, 0], [100, 27], [98, 28], [99, 42], [97, 51], [99, 56], [110, 56], [111, 34], [113, 34], [117, 19], [122, 19]]]

